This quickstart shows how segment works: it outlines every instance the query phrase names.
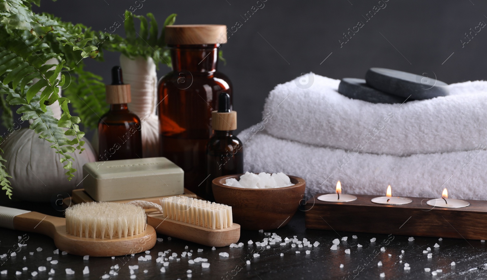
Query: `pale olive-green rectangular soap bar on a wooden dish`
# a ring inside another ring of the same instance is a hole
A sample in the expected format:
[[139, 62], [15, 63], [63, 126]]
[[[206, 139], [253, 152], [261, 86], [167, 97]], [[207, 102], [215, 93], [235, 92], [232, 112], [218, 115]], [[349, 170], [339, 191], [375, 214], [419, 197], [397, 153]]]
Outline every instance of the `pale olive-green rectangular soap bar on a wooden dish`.
[[184, 171], [165, 157], [91, 162], [83, 187], [95, 201], [139, 199], [184, 193]]

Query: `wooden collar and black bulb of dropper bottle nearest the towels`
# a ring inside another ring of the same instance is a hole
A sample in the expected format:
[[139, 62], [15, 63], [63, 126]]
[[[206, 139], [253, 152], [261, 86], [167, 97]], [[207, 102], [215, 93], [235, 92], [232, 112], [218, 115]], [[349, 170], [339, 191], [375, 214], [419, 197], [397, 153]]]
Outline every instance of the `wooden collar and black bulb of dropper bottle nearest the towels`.
[[237, 129], [237, 112], [230, 111], [230, 95], [218, 95], [218, 111], [211, 112], [211, 126], [216, 131], [234, 131]]

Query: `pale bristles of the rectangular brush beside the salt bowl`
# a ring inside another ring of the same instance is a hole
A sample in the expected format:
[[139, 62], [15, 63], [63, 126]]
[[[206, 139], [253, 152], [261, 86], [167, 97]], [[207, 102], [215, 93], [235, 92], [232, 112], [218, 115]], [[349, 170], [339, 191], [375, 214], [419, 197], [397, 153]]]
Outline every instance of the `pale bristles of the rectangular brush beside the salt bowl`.
[[161, 199], [162, 213], [174, 221], [211, 229], [232, 226], [232, 207], [186, 196]]

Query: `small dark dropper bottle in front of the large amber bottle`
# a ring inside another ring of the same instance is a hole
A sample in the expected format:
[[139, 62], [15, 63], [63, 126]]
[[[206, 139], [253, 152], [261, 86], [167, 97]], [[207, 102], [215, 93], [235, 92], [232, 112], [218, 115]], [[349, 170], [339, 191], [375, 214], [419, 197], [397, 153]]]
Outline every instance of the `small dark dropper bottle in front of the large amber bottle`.
[[220, 93], [218, 111], [211, 112], [215, 134], [206, 146], [207, 174], [205, 198], [214, 201], [211, 181], [223, 175], [244, 173], [244, 146], [233, 131], [237, 129], [237, 112], [230, 110], [230, 96]]

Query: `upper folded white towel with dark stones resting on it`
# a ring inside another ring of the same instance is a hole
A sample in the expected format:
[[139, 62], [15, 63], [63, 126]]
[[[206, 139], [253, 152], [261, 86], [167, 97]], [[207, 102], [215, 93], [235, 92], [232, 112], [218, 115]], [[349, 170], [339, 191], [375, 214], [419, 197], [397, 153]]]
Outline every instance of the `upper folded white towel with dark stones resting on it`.
[[[307, 89], [299, 83], [307, 79]], [[314, 79], [313, 82], [311, 82]], [[307, 75], [270, 92], [269, 134], [301, 143], [390, 155], [452, 152], [487, 143], [487, 82], [450, 85], [450, 96], [373, 104], [337, 92], [339, 80]]]

